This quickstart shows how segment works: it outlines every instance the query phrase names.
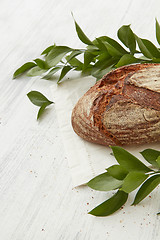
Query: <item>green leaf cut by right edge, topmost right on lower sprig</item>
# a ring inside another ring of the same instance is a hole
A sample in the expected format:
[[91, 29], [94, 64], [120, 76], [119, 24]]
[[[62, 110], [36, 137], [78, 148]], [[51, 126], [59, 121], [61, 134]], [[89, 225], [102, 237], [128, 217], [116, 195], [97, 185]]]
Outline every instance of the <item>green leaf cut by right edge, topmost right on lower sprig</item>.
[[148, 148], [140, 152], [144, 159], [149, 162], [152, 166], [158, 167], [158, 164], [156, 162], [157, 158], [160, 156], [160, 151]]

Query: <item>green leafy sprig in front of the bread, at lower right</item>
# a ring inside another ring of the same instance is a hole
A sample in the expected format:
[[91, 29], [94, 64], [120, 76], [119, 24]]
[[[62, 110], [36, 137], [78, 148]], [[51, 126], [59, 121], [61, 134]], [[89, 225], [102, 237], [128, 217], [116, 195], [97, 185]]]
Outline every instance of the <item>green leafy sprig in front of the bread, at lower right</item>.
[[125, 149], [117, 146], [111, 148], [118, 164], [107, 168], [105, 173], [93, 178], [87, 185], [97, 191], [117, 191], [89, 212], [94, 216], [108, 216], [116, 212], [126, 203], [129, 193], [138, 188], [132, 203], [137, 205], [160, 184], [160, 151], [146, 149], [140, 152], [152, 165], [149, 168]]

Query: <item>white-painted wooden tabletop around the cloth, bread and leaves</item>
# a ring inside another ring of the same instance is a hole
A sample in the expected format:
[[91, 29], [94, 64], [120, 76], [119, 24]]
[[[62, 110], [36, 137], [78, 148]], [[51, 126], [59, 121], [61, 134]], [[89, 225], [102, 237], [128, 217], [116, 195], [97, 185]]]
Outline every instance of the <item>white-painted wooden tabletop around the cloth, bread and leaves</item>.
[[54, 107], [37, 122], [38, 109], [26, 97], [40, 90], [54, 100], [54, 83], [39, 77], [12, 81], [17, 67], [54, 42], [83, 46], [71, 11], [91, 39], [116, 38], [118, 28], [131, 23], [140, 37], [156, 42], [159, 0], [0, 1], [0, 239], [158, 240], [158, 189], [136, 207], [129, 207], [131, 196], [113, 216], [87, 214], [109, 194], [72, 188]]

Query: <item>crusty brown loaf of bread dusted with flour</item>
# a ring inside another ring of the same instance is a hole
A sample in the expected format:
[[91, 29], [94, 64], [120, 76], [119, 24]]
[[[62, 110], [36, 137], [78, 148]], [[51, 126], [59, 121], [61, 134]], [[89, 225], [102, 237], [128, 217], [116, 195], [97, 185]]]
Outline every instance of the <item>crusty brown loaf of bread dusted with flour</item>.
[[74, 131], [102, 145], [160, 141], [160, 64], [133, 64], [106, 74], [77, 102]]

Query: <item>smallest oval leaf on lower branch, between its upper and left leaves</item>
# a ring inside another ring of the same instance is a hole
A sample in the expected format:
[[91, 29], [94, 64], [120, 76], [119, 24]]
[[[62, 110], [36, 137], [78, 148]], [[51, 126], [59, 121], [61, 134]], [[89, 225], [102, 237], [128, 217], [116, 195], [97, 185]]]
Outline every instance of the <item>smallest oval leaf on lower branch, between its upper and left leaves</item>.
[[113, 166], [107, 168], [107, 172], [112, 177], [114, 177], [118, 180], [123, 180], [126, 177], [126, 175], [128, 174], [128, 171], [126, 171], [126, 169], [124, 169], [120, 165], [113, 165]]

